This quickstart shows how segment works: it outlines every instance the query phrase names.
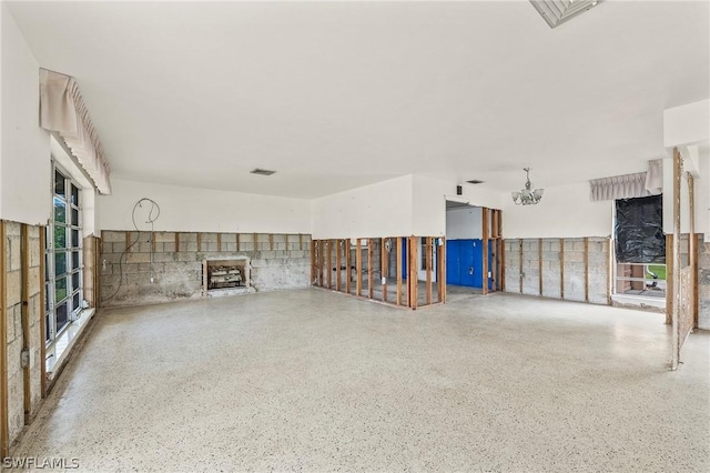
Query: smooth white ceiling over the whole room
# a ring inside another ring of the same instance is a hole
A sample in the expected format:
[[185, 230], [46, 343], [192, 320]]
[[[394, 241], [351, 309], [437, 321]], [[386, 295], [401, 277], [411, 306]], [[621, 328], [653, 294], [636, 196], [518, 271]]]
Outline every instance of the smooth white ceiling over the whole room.
[[[314, 198], [407, 173], [519, 188], [641, 171], [708, 99], [708, 1], [8, 2], [77, 78], [113, 175]], [[253, 168], [278, 171], [252, 175]]]

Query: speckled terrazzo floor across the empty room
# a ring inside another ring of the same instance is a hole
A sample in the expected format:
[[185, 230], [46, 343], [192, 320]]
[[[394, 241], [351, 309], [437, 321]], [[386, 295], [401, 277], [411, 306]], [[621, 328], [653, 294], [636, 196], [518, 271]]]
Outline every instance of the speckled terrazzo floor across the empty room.
[[103, 311], [13, 456], [84, 471], [710, 471], [710, 334], [506, 294]]

